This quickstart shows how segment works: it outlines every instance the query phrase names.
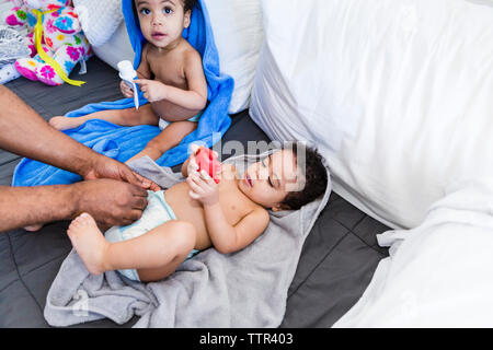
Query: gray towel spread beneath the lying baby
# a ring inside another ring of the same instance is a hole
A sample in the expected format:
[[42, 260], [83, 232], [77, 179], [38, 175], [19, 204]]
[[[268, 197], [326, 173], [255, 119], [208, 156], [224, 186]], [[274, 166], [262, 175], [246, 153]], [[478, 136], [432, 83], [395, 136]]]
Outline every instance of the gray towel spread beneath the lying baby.
[[[256, 159], [242, 155], [226, 163], [243, 172]], [[130, 166], [163, 188], [184, 180], [149, 158]], [[227, 255], [206, 249], [160, 282], [138, 283], [116, 271], [91, 276], [72, 249], [48, 291], [45, 318], [58, 327], [104, 317], [124, 324], [133, 316], [140, 316], [134, 327], [142, 328], [278, 327], [305, 238], [331, 188], [329, 180], [323, 198], [300, 210], [271, 212], [265, 232], [244, 249]]]

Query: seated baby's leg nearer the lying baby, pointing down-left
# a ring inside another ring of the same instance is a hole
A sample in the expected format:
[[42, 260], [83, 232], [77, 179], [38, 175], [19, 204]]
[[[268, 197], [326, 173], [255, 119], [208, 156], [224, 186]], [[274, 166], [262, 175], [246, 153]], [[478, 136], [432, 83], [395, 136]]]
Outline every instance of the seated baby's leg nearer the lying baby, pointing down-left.
[[158, 160], [165, 151], [180, 144], [188, 133], [197, 128], [197, 125], [198, 122], [188, 120], [171, 122], [160, 135], [153, 138], [142, 151], [134, 155], [126, 163], [145, 155], [148, 155], [153, 161]]

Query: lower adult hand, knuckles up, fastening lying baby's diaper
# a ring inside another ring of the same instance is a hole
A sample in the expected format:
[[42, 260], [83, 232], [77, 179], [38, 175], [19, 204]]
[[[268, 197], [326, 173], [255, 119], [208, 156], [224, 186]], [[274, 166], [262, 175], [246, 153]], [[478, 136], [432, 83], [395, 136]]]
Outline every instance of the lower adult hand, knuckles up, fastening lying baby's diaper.
[[90, 213], [104, 226], [129, 225], [140, 219], [147, 207], [147, 190], [114, 179], [73, 184], [74, 214]]

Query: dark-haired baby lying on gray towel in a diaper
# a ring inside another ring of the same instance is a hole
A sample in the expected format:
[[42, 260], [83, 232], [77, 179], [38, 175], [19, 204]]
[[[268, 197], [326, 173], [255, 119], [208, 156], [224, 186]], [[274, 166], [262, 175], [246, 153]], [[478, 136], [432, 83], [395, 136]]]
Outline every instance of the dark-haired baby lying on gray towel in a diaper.
[[267, 228], [267, 209], [297, 210], [328, 185], [321, 156], [300, 144], [275, 151], [241, 177], [223, 164], [219, 184], [197, 172], [193, 151], [182, 166], [186, 182], [149, 191], [149, 205], [133, 225], [111, 228], [103, 236], [89, 214], [72, 221], [67, 233], [91, 273], [118, 270], [130, 280], [158, 281], [211, 246], [238, 252]]

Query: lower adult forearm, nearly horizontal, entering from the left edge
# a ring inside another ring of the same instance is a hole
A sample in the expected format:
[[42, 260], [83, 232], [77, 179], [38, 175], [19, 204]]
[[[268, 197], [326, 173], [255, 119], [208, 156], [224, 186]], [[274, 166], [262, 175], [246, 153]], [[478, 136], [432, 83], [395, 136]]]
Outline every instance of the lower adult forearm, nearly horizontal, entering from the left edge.
[[0, 232], [72, 219], [77, 213], [76, 186], [0, 186]]

